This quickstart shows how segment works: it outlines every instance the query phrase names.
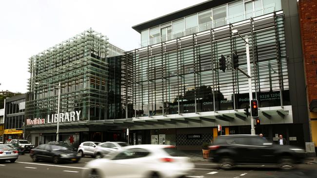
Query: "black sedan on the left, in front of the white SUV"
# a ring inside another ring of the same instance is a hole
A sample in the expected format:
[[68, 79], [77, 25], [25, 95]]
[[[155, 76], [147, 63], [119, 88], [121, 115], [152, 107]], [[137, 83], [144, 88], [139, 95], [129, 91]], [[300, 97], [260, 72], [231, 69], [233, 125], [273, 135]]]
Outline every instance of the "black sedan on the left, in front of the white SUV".
[[55, 164], [64, 161], [78, 162], [81, 158], [79, 153], [71, 147], [55, 144], [41, 144], [30, 151], [33, 161], [52, 160]]

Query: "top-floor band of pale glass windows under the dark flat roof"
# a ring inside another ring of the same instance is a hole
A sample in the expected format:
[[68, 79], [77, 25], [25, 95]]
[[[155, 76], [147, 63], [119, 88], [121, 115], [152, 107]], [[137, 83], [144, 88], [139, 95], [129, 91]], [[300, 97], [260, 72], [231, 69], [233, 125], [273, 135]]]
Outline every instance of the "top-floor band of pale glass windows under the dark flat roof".
[[[141, 31], [141, 47], [210, 30], [229, 23], [281, 10], [281, 0], [236, 0], [193, 15], [167, 22], [172, 31], [159, 31], [165, 24]], [[149, 33], [150, 31], [150, 33]], [[170, 36], [166, 38], [166, 36]]]

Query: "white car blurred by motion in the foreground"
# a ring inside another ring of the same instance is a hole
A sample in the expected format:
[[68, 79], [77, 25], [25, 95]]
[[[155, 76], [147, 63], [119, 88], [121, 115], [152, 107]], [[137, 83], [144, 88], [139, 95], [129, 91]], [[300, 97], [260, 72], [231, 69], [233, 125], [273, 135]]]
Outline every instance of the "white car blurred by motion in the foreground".
[[110, 159], [88, 162], [82, 178], [180, 178], [191, 175], [194, 164], [177, 154], [172, 145], [125, 146]]

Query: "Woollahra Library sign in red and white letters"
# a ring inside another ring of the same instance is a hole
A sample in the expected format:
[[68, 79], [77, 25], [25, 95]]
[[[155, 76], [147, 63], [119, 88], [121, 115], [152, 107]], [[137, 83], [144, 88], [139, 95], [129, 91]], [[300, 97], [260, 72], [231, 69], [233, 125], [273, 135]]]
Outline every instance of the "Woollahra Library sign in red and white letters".
[[[59, 122], [71, 122], [71, 121], [79, 121], [79, 111], [71, 111], [59, 113]], [[39, 124], [48, 124], [48, 123], [57, 123], [58, 114], [47, 115], [47, 118], [34, 118], [34, 119], [26, 119], [26, 125], [39, 125]]]

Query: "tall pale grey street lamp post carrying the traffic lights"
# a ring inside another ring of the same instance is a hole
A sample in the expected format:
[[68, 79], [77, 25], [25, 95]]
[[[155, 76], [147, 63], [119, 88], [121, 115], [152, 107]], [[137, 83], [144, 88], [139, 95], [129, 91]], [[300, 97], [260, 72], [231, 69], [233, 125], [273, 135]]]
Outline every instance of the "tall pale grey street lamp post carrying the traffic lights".
[[[239, 71], [241, 71], [242, 73], [244, 73], [247, 77], [248, 77], [248, 84], [249, 84], [249, 106], [251, 106], [251, 100], [253, 99], [252, 97], [252, 84], [251, 84], [251, 66], [250, 66], [250, 52], [249, 52], [249, 39], [248, 36], [245, 36], [245, 39], [238, 33], [238, 30], [232, 30], [232, 33], [235, 34], [237, 33], [238, 36], [240, 36], [243, 41], [245, 42], [245, 53], [247, 56], [247, 70], [248, 70], [248, 74], [246, 74], [244, 71], [240, 70], [238, 67], [237, 69]], [[255, 135], [256, 134], [256, 130], [254, 129], [254, 121], [253, 121], [253, 117], [251, 116], [251, 134]]]

